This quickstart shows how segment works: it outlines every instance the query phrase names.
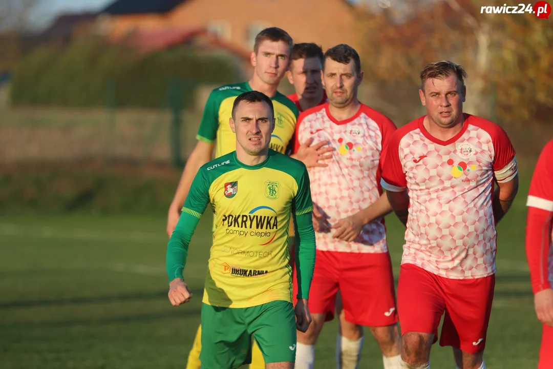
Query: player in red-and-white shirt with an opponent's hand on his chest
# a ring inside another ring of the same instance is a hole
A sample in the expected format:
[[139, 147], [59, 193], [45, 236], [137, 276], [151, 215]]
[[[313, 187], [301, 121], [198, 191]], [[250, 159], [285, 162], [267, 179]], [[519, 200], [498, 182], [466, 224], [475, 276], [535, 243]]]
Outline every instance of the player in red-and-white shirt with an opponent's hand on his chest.
[[327, 167], [308, 169], [317, 257], [309, 294], [312, 323], [307, 332], [298, 331], [297, 369], [314, 367], [314, 345], [325, 320], [333, 319], [338, 289], [343, 309], [337, 367], [357, 367], [362, 326], [368, 326], [382, 349], [384, 368], [399, 369], [401, 341], [383, 219], [392, 207], [379, 185], [380, 159], [396, 127], [357, 100], [362, 79], [354, 49], [327, 50], [322, 80], [329, 101], [301, 113], [296, 125], [296, 147], [315, 139], [335, 148]]

